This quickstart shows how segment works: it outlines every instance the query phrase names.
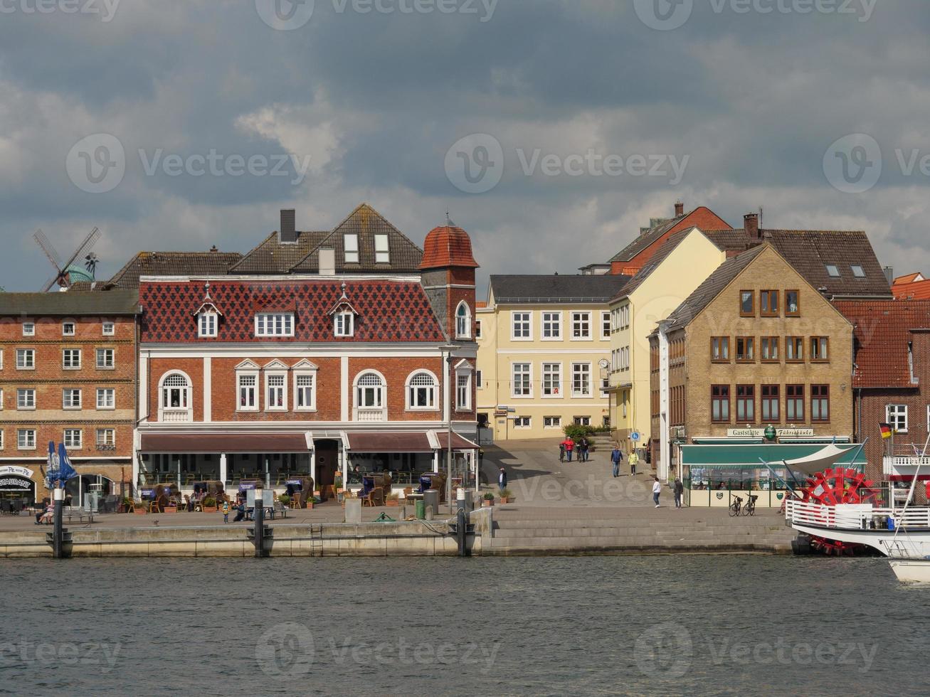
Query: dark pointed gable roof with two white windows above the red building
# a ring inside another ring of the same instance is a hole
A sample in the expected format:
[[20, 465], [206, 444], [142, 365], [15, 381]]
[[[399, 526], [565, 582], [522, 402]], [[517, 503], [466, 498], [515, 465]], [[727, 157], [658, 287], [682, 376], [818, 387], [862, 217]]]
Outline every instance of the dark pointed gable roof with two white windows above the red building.
[[[358, 263], [345, 263], [345, 247], [343, 244], [346, 234], [358, 235]], [[388, 264], [379, 264], [375, 261], [375, 235], [388, 236], [388, 250], [391, 261]], [[293, 273], [316, 273], [320, 268], [320, 248], [336, 250], [337, 273], [366, 273], [366, 272], [416, 272], [423, 259], [423, 250], [412, 243], [406, 235], [397, 230], [369, 204], [360, 204], [349, 217], [346, 217], [335, 230], [316, 245], [310, 252], [300, 259], [291, 268]]]

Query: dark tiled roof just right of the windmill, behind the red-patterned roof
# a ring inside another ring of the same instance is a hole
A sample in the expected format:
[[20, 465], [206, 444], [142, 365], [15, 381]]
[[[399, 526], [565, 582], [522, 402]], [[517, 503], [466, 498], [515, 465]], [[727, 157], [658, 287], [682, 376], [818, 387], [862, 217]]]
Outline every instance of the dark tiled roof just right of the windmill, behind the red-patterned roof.
[[224, 275], [241, 258], [238, 252], [140, 252], [109, 281], [74, 283], [72, 291], [136, 289], [140, 276]]

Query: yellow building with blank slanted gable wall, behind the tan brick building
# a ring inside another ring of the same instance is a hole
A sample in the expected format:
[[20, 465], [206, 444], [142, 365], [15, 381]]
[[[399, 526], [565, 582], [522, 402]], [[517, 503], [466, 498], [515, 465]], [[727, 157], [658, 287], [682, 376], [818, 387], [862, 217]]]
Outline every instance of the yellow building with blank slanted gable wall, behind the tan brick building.
[[733, 237], [697, 228], [676, 232], [611, 300], [610, 423], [624, 451], [634, 442], [644, 448], [651, 435], [649, 335], [724, 262], [726, 249], [745, 246], [741, 230]]

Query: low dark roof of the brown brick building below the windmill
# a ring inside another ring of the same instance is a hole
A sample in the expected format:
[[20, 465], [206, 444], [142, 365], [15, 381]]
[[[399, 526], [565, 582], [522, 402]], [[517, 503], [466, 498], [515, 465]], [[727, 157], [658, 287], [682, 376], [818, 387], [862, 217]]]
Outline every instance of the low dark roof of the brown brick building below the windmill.
[[0, 315], [134, 315], [139, 314], [138, 290], [109, 293], [63, 291], [58, 293], [0, 293]]

